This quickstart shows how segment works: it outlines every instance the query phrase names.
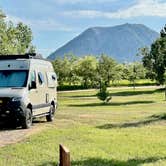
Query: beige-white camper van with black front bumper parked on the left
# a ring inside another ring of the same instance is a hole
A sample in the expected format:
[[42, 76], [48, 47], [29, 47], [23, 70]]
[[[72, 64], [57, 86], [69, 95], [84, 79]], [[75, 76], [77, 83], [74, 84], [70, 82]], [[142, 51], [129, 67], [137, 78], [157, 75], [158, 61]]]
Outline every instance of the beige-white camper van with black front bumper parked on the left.
[[53, 121], [56, 87], [51, 62], [36, 54], [0, 56], [0, 122], [26, 129], [35, 117]]

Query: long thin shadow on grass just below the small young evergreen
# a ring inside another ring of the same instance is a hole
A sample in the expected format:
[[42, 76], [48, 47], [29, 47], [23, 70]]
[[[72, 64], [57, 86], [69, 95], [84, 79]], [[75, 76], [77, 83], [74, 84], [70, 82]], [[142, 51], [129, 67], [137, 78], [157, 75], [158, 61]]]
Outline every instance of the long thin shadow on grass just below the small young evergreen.
[[69, 104], [69, 107], [98, 107], [98, 106], [122, 106], [134, 104], [151, 104], [154, 101], [128, 101], [128, 102], [110, 102], [110, 103], [85, 103], [85, 104]]

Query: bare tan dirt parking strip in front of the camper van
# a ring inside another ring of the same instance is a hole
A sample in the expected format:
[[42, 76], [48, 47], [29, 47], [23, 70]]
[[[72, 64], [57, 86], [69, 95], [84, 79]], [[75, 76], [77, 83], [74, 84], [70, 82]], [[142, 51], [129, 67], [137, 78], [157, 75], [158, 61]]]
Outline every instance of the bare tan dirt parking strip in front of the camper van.
[[29, 137], [30, 135], [36, 134], [41, 130], [46, 128], [46, 124], [43, 121], [35, 122], [30, 129], [2, 129], [0, 130], [0, 147], [17, 143], [25, 138]]

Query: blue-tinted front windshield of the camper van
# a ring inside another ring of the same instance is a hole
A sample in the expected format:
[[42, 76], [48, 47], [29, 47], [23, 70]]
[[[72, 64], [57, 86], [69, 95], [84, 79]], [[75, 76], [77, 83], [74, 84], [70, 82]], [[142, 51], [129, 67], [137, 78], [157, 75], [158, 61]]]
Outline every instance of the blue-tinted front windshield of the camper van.
[[25, 87], [27, 78], [27, 70], [0, 70], [0, 88]]

